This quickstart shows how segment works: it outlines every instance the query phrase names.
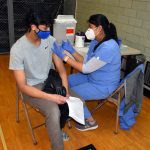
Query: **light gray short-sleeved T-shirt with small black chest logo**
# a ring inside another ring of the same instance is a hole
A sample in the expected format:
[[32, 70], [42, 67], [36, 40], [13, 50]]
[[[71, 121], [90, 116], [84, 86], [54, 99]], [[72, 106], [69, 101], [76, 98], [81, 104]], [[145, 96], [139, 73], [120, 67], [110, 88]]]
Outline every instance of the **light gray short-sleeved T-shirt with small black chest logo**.
[[9, 69], [24, 70], [28, 85], [43, 83], [52, 67], [54, 41], [55, 38], [49, 36], [41, 39], [41, 44], [36, 47], [26, 35], [22, 36], [11, 48]]

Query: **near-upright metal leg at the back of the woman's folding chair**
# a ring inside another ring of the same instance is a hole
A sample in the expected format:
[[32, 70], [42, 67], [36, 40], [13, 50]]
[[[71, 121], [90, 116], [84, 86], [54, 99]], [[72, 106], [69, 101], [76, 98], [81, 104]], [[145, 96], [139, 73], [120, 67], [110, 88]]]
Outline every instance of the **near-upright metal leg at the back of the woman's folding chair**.
[[119, 125], [119, 112], [120, 112], [120, 100], [121, 100], [121, 95], [120, 93], [118, 94], [118, 103], [117, 103], [117, 113], [116, 113], [116, 127], [115, 127], [115, 134], [118, 134], [118, 125]]

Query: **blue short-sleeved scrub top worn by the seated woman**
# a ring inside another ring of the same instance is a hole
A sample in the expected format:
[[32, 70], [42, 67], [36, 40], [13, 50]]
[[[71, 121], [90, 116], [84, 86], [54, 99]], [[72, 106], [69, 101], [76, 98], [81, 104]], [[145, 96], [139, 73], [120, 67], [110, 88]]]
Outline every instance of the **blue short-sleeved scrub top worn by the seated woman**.
[[96, 57], [107, 64], [88, 74], [88, 79], [89, 82], [98, 85], [98, 88], [107, 87], [108, 92], [112, 93], [118, 87], [120, 82], [120, 48], [115, 40], [110, 39], [100, 44], [95, 52], [93, 52], [94, 47], [97, 44], [97, 40], [91, 41], [85, 62], [90, 60], [92, 57]]

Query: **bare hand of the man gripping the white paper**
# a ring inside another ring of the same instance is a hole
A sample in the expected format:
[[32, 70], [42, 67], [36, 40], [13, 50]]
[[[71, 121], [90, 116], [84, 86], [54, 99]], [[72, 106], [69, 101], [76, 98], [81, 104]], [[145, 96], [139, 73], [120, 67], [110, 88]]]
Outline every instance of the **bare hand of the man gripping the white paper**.
[[67, 97], [57, 95], [57, 94], [48, 94], [48, 100], [53, 101], [57, 104], [64, 104], [66, 103]]

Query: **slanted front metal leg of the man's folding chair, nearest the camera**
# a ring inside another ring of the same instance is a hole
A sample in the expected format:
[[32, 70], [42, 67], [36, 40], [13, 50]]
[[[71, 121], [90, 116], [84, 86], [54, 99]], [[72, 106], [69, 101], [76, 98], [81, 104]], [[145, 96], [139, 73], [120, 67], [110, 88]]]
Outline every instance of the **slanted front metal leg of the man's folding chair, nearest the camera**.
[[23, 102], [23, 106], [24, 106], [24, 111], [25, 111], [26, 117], [27, 117], [28, 125], [29, 125], [30, 131], [31, 131], [32, 140], [33, 140], [33, 143], [36, 145], [37, 140], [36, 140], [35, 135], [34, 135], [34, 131], [33, 131], [33, 128], [32, 128], [32, 123], [31, 123], [31, 120], [29, 118], [29, 113], [28, 113], [28, 110], [27, 110], [27, 106], [24, 102]]

